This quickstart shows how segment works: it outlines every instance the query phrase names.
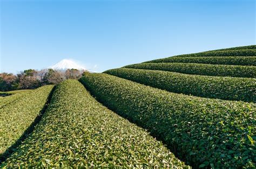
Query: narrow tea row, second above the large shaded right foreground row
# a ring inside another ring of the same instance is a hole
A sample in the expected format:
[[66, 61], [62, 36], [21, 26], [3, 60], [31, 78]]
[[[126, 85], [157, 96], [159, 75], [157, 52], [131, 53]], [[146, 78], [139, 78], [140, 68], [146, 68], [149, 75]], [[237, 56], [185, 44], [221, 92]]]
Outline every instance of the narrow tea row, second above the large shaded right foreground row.
[[146, 63], [125, 66], [125, 68], [151, 69], [207, 76], [231, 76], [256, 78], [256, 66], [210, 65], [192, 63]]

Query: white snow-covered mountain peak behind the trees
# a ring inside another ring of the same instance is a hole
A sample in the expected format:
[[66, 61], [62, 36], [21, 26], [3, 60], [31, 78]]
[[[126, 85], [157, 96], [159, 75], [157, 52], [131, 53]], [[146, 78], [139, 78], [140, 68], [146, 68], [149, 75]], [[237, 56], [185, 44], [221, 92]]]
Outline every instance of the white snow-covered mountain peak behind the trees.
[[59, 61], [57, 64], [50, 66], [49, 68], [59, 71], [65, 71], [66, 69], [78, 69], [78, 70], [86, 70], [85, 67], [78, 64], [76, 61], [70, 59], [63, 59]]

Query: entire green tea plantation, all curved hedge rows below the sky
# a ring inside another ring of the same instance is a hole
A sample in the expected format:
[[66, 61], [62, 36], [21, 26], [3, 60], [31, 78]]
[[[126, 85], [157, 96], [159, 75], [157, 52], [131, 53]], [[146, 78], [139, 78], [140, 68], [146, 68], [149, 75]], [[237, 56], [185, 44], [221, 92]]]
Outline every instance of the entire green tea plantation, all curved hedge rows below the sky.
[[0, 98], [2, 168], [255, 168], [256, 45]]

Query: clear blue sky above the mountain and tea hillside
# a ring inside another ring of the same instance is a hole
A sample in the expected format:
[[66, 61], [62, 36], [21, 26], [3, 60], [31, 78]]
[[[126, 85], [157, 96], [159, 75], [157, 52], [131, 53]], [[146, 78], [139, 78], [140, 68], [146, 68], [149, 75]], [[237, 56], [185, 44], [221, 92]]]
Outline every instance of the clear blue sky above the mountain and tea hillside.
[[0, 72], [46, 68], [65, 58], [102, 72], [255, 44], [254, 1], [0, 2]]

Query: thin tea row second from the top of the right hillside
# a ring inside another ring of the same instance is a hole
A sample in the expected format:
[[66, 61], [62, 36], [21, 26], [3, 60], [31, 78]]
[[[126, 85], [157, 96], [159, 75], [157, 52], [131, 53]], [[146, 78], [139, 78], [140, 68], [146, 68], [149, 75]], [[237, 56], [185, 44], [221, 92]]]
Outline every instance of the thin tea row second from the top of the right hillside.
[[256, 50], [207, 51], [191, 54], [181, 54], [174, 57], [252, 57]]

